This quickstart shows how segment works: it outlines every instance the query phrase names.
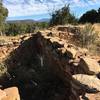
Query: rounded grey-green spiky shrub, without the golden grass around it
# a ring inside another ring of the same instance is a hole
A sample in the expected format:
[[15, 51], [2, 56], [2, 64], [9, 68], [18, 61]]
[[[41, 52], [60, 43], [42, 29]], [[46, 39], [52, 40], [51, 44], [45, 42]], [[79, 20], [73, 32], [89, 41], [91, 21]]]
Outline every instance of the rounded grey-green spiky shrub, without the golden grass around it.
[[89, 45], [94, 44], [97, 38], [98, 33], [95, 32], [94, 27], [91, 24], [87, 24], [83, 29], [81, 29], [78, 36], [80, 45], [86, 48], [88, 48]]

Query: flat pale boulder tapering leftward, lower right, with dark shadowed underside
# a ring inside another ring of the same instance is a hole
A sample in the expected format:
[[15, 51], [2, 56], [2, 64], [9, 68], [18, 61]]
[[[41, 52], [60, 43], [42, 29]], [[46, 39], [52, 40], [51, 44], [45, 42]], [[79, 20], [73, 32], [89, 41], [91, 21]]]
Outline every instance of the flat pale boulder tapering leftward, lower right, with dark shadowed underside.
[[80, 86], [86, 88], [87, 93], [100, 91], [100, 80], [96, 76], [76, 74], [73, 75], [73, 78], [80, 83]]

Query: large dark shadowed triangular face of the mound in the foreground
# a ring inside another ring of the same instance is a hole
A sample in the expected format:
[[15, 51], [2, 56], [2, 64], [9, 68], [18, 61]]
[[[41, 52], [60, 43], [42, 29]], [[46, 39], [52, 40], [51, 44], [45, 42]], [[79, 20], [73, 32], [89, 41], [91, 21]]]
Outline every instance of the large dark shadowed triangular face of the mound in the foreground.
[[24, 100], [78, 100], [71, 91], [71, 73], [57, 58], [59, 46], [53, 49], [55, 44], [47, 43], [38, 32], [12, 52], [5, 61], [8, 84], [17, 85]]

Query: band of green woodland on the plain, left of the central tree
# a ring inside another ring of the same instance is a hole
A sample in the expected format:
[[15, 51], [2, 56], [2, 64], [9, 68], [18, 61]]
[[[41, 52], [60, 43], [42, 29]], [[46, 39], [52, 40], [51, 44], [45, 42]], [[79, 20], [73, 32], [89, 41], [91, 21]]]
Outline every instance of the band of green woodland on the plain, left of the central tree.
[[2, 33], [5, 35], [15, 36], [17, 34], [34, 33], [35, 30], [44, 29], [47, 27], [47, 22], [12, 22], [5, 23]]

